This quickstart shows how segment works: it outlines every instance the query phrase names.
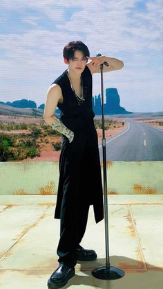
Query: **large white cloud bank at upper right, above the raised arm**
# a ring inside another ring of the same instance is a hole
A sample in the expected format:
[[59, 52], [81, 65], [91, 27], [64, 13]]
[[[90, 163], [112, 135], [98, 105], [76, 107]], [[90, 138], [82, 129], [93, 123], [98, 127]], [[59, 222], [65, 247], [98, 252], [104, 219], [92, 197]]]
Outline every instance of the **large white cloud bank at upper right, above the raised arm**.
[[[149, 46], [154, 50], [162, 49], [161, 1], [153, 5], [154, 10], [148, 8], [141, 13], [133, 10], [138, 1], [98, 2], [99, 5], [90, 5], [87, 1], [86, 7], [82, 1], [77, 2], [83, 10], [75, 12], [69, 21], [58, 24], [57, 28], [69, 32], [81, 28], [90, 48], [109, 47], [111, 52], [136, 52]], [[75, 1], [69, 4], [73, 6]], [[66, 1], [61, 1], [61, 5], [66, 6]]]

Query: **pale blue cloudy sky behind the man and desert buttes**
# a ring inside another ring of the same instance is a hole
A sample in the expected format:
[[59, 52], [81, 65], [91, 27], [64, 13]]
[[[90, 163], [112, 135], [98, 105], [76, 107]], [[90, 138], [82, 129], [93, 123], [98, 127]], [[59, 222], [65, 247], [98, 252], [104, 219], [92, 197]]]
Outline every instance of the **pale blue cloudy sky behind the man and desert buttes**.
[[[0, 3], [0, 101], [30, 99], [39, 106], [65, 69], [62, 50], [81, 40], [90, 56], [124, 61], [104, 74], [133, 112], [163, 111], [162, 0], [3, 0]], [[93, 95], [101, 91], [93, 76]]]

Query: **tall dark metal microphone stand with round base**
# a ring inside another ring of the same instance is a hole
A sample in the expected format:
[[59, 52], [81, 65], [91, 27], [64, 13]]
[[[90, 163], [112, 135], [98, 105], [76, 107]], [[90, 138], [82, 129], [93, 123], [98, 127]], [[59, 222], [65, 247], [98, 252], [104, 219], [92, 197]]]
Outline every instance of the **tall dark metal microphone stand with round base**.
[[[99, 56], [101, 54], [97, 54]], [[103, 85], [103, 68], [108, 66], [107, 62], [100, 65], [101, 86], [102, 86], [102, 152], [103, 152], [103, 174], [104, 174], [104, 221], [105, 221], [105, 243], [106, 243], [106, 266], [101, 266], [92, 271], [92, 275], [98, 279], [114, 280], [124, 276], [124, 271], [111, 266], [108, 245], [108, 195], [107, 195], [107, 175], [106, 175], [106, 139], [104, 130], [104, 85]]]

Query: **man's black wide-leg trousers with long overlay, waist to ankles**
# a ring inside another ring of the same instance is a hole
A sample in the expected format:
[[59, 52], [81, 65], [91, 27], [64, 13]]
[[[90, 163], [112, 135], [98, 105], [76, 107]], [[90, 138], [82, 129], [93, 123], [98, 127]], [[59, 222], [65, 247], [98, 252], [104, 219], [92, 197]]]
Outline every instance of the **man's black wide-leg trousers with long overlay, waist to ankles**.
[[[72, 143], [64, 138], [55, 212], [61, 219], [57, 248], [59, 263], [72, 267], [77, 263], [77, 246], [86, 230], [89, 206], [102, 191], [100, 173], [97, 136], [93, 126], [83, 132], [76, 132]], [[100, 202], [99, 208], [102, 208]]]

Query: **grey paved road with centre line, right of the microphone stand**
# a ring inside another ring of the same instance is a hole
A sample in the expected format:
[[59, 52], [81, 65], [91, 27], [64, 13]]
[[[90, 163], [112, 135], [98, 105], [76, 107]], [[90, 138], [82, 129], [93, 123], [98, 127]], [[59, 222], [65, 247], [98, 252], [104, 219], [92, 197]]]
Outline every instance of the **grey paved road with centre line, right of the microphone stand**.
[[[126, 119], [128, 127], [106, 139], [107, 161], [163, 161], [163, 131]], [[102, 146], [99, 145], [102, 160]]]

